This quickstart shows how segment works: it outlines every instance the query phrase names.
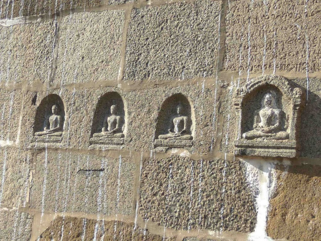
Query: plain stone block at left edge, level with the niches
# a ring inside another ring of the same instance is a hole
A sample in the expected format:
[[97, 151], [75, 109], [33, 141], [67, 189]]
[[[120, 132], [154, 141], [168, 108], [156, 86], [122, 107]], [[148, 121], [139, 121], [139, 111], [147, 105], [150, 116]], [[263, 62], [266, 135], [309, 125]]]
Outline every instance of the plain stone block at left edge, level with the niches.
[[15, 142], [20, 131], [22, 90], [0, 89], [0, 142]]

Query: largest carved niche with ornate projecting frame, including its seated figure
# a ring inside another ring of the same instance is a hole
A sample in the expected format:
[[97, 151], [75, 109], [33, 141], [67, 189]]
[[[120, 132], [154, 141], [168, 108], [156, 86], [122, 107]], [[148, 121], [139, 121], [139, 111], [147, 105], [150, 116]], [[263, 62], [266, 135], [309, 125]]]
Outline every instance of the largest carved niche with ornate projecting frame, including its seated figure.
[[235, 154], [296, 157], [303, 92], [281, 76], [262, 76], [237, 89]]

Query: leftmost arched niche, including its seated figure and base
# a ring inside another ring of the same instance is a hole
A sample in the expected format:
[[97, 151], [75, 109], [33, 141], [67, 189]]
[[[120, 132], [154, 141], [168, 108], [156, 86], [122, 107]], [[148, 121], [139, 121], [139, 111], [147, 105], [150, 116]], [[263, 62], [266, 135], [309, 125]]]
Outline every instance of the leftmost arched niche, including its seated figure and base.
[[49, 94], [37, 108], [31, 147], [59, 147], [64, 131], [65, 109], [59, 95]]

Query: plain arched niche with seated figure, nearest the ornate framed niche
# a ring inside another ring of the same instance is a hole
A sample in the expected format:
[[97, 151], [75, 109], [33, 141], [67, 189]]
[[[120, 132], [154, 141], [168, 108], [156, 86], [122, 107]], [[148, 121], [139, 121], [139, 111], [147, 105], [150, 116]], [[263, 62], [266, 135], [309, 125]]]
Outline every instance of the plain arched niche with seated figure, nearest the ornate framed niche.
[[194, 113], [187, 98], [174, 94], [167, 98], [157, 118], [154, 147], [162, 149], [193, 146]]

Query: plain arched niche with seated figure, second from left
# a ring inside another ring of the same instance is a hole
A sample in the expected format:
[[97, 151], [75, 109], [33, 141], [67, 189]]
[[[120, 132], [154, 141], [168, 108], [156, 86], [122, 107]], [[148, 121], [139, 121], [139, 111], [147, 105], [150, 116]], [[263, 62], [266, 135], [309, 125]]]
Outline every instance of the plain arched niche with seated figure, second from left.
[[96, 105], [90, 138], [90, 149], [121, 149], [126, 135], [125, 108], [117, 92], [108, 92]]

